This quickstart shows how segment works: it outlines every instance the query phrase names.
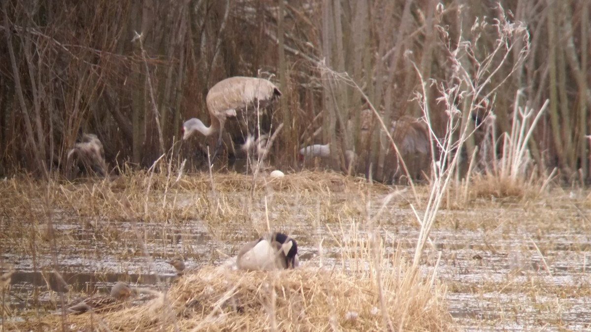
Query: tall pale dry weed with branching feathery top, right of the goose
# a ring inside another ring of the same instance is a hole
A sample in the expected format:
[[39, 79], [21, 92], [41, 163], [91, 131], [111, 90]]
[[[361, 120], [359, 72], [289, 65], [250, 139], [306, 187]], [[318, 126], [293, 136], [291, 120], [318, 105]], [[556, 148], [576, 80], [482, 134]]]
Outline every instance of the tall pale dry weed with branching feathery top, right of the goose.
[[[476, 48], [479, 47], [480, 35], [489, 28], [496, 32], [495, 47], [489, 53], [478, 56]], [[407, 58], [413, 64], [417, 76], [420, 77], [421, 90], [416, 93], [415, 98], [423, 110], [424, 121], [426, 121], [430, 129], [431, 154], [433, 157], [431, 194], [426, 209], [421, 215], [413, 207], [417, 220], [421, 224], [413, 259], [415, 269], [418, 269], [420, 264], [424, 246], [429, 240], [429, 233], [436, 220], [443, 198], [446, 196], [447, 188], [452, 184], [454, 177], [459, 178], [457, 167], [464, 144], [475, 131], [475, 129], [470, 130], [469, 121], [462, 120], [471, 118], [473, 114], [483, 114], [485, 117], [492, 116], [496, 92], [521, 67], [530, 47], [529, 34], [525, 25], [521, 22], [509, 22], [504, 15], [495, 18], [495, 24], [492, 27], [477, 18], [470, 31], [472, 40], [466, 40], [465, 34], [460, 31], [458, 34], [459, 39], [452, 41], [449, 39], [449, 32], [444, 27], [439, 26], [437, 30], [441, 35], [441, 39], [447, 45], [447, 51], [449, 52], [447, 56], [452, 63], [452, 77], [449, 82], [424, 79], [421, 70], [411, 60], [411, 54], [407, 54]], [[509, 64], [508, 57], [512, 54], [515, 44], [524, 46], [519, 51], [517, 60]], [[501, 79], [493, 80], [493, 77], [504, 72], [501, 70], [507, 66], [509, 70], [506, 71], [506, 75]], [[499, 83], [494, 84], [492, 82]], [[437, 97], [437, 102], [442, 103], [446, 109], [447, 129], [442, 138], [437, 137], [431, 126], [430, 103], [427, 99], [428, 86], [436, 87], [440, 95]], [[524, 154], [525, 151], [522, 149], [519, 156], [522, 157]], [[465, 185], [469, 185], [469, 181], [466, 181]]]

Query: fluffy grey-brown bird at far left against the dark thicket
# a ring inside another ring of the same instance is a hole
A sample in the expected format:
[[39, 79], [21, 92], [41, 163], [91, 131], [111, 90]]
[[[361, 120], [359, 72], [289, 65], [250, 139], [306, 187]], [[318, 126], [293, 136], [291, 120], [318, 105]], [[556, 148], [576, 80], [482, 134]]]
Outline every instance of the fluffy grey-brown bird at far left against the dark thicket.
[[93, 171], [102, 177], [107, 174], [105, 149], [95, 134], [84, 134], [82, 141], [77, 142], [74, 148], [68, 151], [67, 160], [68, 167], [71, 167], [73, 161], [76, 161], [76, 166], [80, 170]]

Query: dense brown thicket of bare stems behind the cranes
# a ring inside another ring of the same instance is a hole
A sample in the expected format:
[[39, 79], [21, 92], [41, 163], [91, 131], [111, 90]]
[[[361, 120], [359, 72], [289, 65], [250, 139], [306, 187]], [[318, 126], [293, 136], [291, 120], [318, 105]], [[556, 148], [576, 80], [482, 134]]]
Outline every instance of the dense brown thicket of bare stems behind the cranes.
[[[353, 87], [331, 84], [321, 64], [348, 73], [385, 122], [420, 117], [414, 100], [420, 79], [408, 58], [424, 79], [453, 82], [454, 43], [469, 41], [475, 57], [484, 58], [498, 40], [493, 25], [506, 17], [525, 24], [529, 44], [515, 39], [506, 58], [491, 59], [504, 61], [492, 75], [493, 85], [519, 66], [491, 99], [496, 128], [510, 131], [519, 89], [520, 103], [534, 109], [550, 99], [529, 145], [531, 157], [541, 169], [557, 167], [565, 180], [587, 181], [589, 3], [5, 0], [0, 176], [60, 173], [82, 133], [99, 137], [111, 167], [149, 167], [164, 153], [191, 157], [191, 149], [171, 149], [173, 137], [179, 139], [185, 119], [209, 124], [207, 90], [230, 76], [265, 77], [280, 87], [274, 122], [284, 128], [271, 162], [297, 168], [298, 149], [334, 142], [343, 123], [359, 123], [357, 115], [366, 108]], [[471, 30], [476, 19], [490, 27], [478, 40]], [[527, 57], [518, 63], [524, 47]], [[463, 65], [475, 72], [478, 62], [467, 58]], [[443, 136], [448, 113], [437, 102], [440, 92], [427, 86], [431, 126]], [[359, 151], [356, 135], [349, 140]], [[467, 141], [466, 155], [478, 144], [478, 136]], [[379, 162], [378, 155], [372, 158]]]

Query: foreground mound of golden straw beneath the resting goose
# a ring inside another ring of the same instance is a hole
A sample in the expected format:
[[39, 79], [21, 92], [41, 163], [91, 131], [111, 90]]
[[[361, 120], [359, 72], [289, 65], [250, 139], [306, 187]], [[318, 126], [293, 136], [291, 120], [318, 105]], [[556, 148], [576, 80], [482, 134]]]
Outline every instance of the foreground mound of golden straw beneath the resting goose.
[[[245, 272], [207, 266], [181, 277], [166, 295], [146, 304], [101, 315], [70, 315], [67, 326], [118, 331], [450, 330], [450, 315], [433, 289], [420, 282], [408, 287], [405, 279], [384, 283], [388, 312], [382, 315], [375, 279], [369, 276], [312, 268]], [[59, 327], [60, 320], [51, 315], [34, 326], [14, 327]]]

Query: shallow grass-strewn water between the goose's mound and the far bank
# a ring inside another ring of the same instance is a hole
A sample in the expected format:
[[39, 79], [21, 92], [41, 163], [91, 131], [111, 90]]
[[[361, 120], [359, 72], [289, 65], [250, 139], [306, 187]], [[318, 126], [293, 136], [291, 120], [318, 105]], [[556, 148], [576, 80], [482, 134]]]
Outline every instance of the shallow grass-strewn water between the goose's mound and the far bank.
[[[199, 195], [178, 195], [176, 206], [202, 209], [195, 203]], [[17, 242], [12, 248], [3, 247], [2, 259], [15, 262], [17, 270], [9, 307], [16, 315], [39, 307], [55, 310], [59, 306], [55, 292], [63, 290], [64, 283], [69, 285], [68, 297], [106, 292], [120, 280], [165, 287], [176, 276], [167, 259], [181, 254], [193, 268], [222, 263], [256, 237], [254, 229], [266, 229], [266, 216], [274, 229], [298, 240], [302, 265], [340, 266], [344, 258], [338, 243], [351, 245], [371, 229], [378, 230], [387, 253], [400, 248], [410, 257], [413, 254], [419, 227], [408, 196], [395, 198], [380, 214], [385, 194], [307, 195], [303, 199], [269, 192], [255, 198], [251, 210], [238, 212], [243, 219], [217, 224], [71, 217], [72, 211], [56, 208], [56, 250], [47, 243], [38, 252], [26, 245], [17, 248]], [[244, 195], [220, 196], [238, 200]], [[425, 274], [434, 272], [447, 285], [449, 311], [460, 328], [519, 331], [591, 326], [591, 224], [584, 218], [585, 202], [563, 196], [528, 203], [482, 200], [465, 209], [440, 211], [430, 235], [433, 246], [427, 246], [422, 266]], [[375, 219], [368, 217], [378, 214]], [[61, 279], [54, 273], [54, 260]]]

